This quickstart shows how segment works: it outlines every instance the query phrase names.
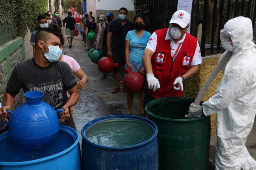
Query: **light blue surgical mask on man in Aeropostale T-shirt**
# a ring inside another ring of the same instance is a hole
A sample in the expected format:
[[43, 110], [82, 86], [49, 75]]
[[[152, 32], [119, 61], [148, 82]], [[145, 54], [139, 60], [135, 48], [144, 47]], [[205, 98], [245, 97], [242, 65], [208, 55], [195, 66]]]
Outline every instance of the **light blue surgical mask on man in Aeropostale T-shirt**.
[[47, 58], [47, 60], [50, 61], [50, 62], [58, 61], [59, 57], [61, 56], [61, 50], [60, 50], [59, 46], [47, 46], [47, 47], [49, 49], [48, 53], [45, 53], [45, 51], [42, 49], [43, 52], [45, 53], [44, 56]]

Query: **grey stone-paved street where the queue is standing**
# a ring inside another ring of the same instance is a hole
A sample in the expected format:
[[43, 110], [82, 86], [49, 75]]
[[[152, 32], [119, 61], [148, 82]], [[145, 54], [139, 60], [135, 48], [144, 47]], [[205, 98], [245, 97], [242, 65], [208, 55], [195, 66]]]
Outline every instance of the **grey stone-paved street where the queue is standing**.
[[[66, 55], [74, 57], [89, 77], [86, 87], [83, 90], [79, 90], [80, 99], [77, 103], [76, 112], [76, 128], [80, 135], [80, 143], [82, 144], [81, 130], [87, 122], [102, 116], [125, 114], [128, 111], [126, 93], [123, 93], [122, 90], [116, 94], [111, 93], [111, 90], [115, 87], [115, 80], [112, 76], [100, 80], [102, 73], [98, 71], [97, 65], [91, 62], [88, 51], [85, 51], [84, 42], [81, 41], [81, 35], [74, 37], [71, 49], [69, 49], [67, 38], [65, 38], [65, 29], [63, 29], [63, 35], [65, 39], [64, 51]], [[139, 115], [140, 105], [138, 95], [134, 96], [133, 104], [133, 113]], [[254, 159], [256, 159], [255, 134], [256, 125], [254, 124], [246, 143], [247, 149]], [[210, 161], [212, 165], [214, 165], [215, 160], [215, 144], [216, 136], [211, 137]]]

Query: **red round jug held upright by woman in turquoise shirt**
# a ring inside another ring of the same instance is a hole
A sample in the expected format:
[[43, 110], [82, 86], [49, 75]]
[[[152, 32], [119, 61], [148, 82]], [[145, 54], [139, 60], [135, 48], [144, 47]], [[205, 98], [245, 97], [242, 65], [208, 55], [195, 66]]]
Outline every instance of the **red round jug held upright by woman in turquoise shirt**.
[[123, 83], [124, 88], [132, 94], [138, 93], [142, 89], [143, 75], [138, 72], [132, 71], [132, 68], [128, 67], [124, 70], [126, 73]]

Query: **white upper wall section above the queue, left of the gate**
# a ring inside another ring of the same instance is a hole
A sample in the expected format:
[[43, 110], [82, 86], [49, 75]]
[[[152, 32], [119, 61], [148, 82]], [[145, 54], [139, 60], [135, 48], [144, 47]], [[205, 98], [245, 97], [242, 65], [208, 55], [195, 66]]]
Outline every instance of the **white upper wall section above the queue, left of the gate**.
[[96, 0], [97, 10], [119, 10], [121, 7], [134, 11], [132, 0]]

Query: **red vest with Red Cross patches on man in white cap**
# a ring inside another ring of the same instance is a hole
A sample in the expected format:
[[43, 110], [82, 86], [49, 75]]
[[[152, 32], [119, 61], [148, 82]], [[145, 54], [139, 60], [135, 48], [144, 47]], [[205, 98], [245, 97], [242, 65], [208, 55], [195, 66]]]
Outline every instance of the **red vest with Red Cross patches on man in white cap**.
[[184, 75], [191, 64], [197, 48], [197, 38], [186, 33], [186, 38], [180, 47], [180, 51], [174, 62], [171, 56], [171, 40], [165, 40], [167, 28], [155, 31], [157, 35], [157, 45], [154, 55], [151, 57], [154, 76], [159, 80], [160, 89], [153, 91], [145, 88], [148, 93], [158, 99], [160, 97], [182, 97], [181, 90], [174, 90], [174, 80]]

